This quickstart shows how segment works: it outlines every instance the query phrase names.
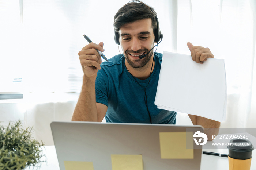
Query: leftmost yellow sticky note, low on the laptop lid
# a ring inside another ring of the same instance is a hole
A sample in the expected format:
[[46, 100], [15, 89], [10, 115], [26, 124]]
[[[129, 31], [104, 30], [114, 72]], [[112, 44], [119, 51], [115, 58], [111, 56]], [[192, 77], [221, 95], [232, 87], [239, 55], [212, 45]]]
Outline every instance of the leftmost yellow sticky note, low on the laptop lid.
[[66, 170], [94, 170], [93, 162], [64, 161]]

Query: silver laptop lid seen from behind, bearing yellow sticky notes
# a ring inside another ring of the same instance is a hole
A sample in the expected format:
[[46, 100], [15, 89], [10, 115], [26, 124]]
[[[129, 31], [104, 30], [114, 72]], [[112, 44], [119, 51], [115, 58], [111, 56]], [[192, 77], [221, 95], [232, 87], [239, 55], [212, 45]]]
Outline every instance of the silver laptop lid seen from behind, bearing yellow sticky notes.
[[52, 122], [51, 129], [60, 170], [65, 170], [64, 161], [91, 162], [94, 170], [112, 170], [113, 155], [142, 155], [143, 170], [200, 170], [202, 146], [193, 143], [193, 158], [163, 159], [159, 133], [194, 134], [203, 132], [202, 126]]

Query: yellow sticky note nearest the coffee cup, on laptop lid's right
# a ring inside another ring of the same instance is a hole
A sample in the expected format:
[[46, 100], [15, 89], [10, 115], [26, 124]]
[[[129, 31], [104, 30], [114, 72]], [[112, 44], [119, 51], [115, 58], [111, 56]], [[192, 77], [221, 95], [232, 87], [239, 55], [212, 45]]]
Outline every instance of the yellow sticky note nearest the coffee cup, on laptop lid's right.
[[[187, 134], [186, 134], [187, 133]], [[187, 146], [192, 149], [186, 149]], [[162, 159], [193, 159], [193, 132], [159, 132]]]

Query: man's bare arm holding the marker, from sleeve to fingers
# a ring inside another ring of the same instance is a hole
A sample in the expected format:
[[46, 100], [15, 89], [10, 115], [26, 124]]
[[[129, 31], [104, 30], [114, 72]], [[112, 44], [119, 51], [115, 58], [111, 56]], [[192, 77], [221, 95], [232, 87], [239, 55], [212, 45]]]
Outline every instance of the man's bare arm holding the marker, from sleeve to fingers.
[[84, 76], [72, 121], [101, 122], [106, 115], [108, 107], [104, 104], [96, 103], [95, 94], [95, 80], [98, 70], [101, 69], [101, 56], [97, 50], [103, 52], [103, 45], [103, 42], [98, 45], [90, 43], [78, 53]]

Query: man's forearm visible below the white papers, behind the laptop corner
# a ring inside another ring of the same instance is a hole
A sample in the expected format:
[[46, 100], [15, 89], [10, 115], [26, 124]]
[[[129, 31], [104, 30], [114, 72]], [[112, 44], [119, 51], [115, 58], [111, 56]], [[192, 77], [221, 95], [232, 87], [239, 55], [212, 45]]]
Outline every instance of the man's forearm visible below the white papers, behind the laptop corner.
[[207, 135], [208, 140], [211, 141], [212, 135], [218, 135], [221, 123], [219, 121], [207, 119], [201, 116], [188, 115], [194, 125], [201, 125], [204, 127], [204, 134]]

